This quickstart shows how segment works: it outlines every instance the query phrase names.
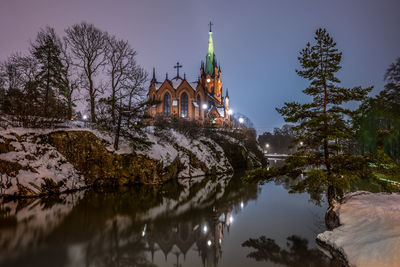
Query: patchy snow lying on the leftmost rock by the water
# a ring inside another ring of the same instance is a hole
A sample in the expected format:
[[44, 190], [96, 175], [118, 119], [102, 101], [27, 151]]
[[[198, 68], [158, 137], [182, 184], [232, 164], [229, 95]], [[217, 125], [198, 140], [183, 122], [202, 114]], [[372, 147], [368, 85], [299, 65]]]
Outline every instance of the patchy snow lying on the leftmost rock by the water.
[[[36, 130], [43, 133], [50, 130]], [[0, 194], [18, 194], [18, 185], [22, 185], [34, 194], [40, 194], [45, 179], [62, 183], [60, 192], [85, 187], [84, 177], [68, 163], [65, 157], [53, 146], [40, 142], [40, 135], [30, 133], [29, 129], [10, 128], [0, 131], [3, 139], [13, 140], [10, 145], [15, 151], [0, 154], [0, 160], [18, 163], [20, 169], [16, 176], [1, 174]], [[18, 136], [18, 138], [16, 137]], [[18, 141], [20, 140], [20, 141]], [[7, 181], [11, 183], [7, 185]]]

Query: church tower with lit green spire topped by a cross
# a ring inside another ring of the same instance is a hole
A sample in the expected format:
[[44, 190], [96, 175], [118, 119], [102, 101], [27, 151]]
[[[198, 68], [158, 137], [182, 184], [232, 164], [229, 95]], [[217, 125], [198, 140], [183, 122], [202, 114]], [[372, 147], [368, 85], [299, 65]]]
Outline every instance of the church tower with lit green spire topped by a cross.
[[212, 39], [212, 23], [210, 22], [210, 31], [208, 32], [208, 49], [206, 55], [206, 64], [201, 63], [200, 83], [207, 89], [207, 92], [219, 103], [223, 102], [221, 68], [217, 65], [217, 58], [214, 53], [214, 43]]

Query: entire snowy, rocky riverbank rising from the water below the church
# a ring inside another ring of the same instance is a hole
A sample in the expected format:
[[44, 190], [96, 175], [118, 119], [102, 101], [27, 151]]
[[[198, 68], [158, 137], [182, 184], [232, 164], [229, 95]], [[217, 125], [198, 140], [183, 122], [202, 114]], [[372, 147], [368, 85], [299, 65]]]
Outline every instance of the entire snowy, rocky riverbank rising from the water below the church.
[[[147, 148], [83, 128], [0, 129], [0, 195], [36, 197], [90, 186], [161, 184], [171, 179], [232, 173], [236, 162], [262, 165], [246, 145], [221, 132], [191, 138], [174, 129], [146, 129]], [[215, 138], [215, 137], [218, 138]], [[239, 160], [237, 159], [239, 155]]]

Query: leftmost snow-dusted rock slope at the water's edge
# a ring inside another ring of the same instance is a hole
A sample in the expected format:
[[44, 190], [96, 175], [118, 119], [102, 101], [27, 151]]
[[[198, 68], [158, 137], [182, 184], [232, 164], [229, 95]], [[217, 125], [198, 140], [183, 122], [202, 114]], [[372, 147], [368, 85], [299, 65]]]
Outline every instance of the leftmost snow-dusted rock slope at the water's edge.
[[85, 186], [84, 177], [40, 136], [11, 130], [0, 136], [0, 195], [36, 196]]

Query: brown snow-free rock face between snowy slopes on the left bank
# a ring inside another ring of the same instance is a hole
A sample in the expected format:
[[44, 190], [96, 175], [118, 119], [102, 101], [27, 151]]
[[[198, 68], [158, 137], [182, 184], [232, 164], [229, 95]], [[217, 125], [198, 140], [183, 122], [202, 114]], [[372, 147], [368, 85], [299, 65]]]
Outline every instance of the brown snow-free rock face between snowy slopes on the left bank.
[[83, 174], [87, 184], [159, 184], [176, 173], [144, 155], [112, 153], [89, 131], [53, 132], [47, 141]]

